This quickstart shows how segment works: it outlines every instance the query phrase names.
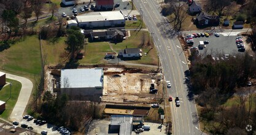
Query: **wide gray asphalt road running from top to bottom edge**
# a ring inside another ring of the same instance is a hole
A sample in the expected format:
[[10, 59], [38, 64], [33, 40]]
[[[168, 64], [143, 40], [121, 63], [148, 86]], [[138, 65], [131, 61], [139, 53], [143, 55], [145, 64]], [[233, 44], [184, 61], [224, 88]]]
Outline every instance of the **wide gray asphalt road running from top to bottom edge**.
[[180, 107], [171, 102], [171, 114], [173, 118], [173, 134], [201, 134], [198, 129], [195, 102], [188, 100], [187, 86], [184, 84], [184, 72], [188, 70], [187, 61], [180, 47], [177, 37], [168, 37], [166, 32], [170, 26], [166, 18], [160, 13], [160, 6], [155, 0], [134, 0], [137, 9], [142, 9], [143, 21], [158, 49], [165, 80], [171, 81], [168, 94], [175, 98], [179, 96]]

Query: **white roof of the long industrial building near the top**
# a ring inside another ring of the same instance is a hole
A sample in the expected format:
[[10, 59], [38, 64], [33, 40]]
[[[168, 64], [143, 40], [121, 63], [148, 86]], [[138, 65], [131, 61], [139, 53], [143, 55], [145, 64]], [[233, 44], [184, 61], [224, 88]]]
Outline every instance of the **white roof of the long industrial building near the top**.
[[105, 21], [105, 20], [125, 20], [120, 11], [106, 11], [106, 12], [89, 12], [86, 15], [77, 15], [76, 20], [80, 22], [89, 21]]

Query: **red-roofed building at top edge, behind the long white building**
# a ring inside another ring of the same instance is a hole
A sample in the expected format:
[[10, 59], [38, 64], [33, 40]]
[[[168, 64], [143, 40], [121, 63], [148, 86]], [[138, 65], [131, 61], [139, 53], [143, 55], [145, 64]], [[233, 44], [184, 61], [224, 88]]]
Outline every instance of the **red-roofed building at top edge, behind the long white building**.
[[96, 0], [96, 10], [112, 10], [114, 9], [114, 0]]

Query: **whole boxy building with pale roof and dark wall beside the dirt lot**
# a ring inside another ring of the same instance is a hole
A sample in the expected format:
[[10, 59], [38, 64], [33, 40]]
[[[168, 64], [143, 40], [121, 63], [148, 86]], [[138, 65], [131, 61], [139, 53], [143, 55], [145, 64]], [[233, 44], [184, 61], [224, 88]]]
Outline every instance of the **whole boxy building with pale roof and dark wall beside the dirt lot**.
[[103, 68], [62, 69], [60, 92], [71, 100], [99, 98], [103, 95], [103, 75]]

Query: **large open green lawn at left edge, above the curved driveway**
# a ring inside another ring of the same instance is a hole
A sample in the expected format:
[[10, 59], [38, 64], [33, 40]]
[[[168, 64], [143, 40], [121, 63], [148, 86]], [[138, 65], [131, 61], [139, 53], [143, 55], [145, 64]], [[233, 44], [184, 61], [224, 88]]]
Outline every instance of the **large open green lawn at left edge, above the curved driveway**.
[[0, 67], [12, 74], [34, 79], [41, 72], [38, 36], [28, 36], [0, 53]]

